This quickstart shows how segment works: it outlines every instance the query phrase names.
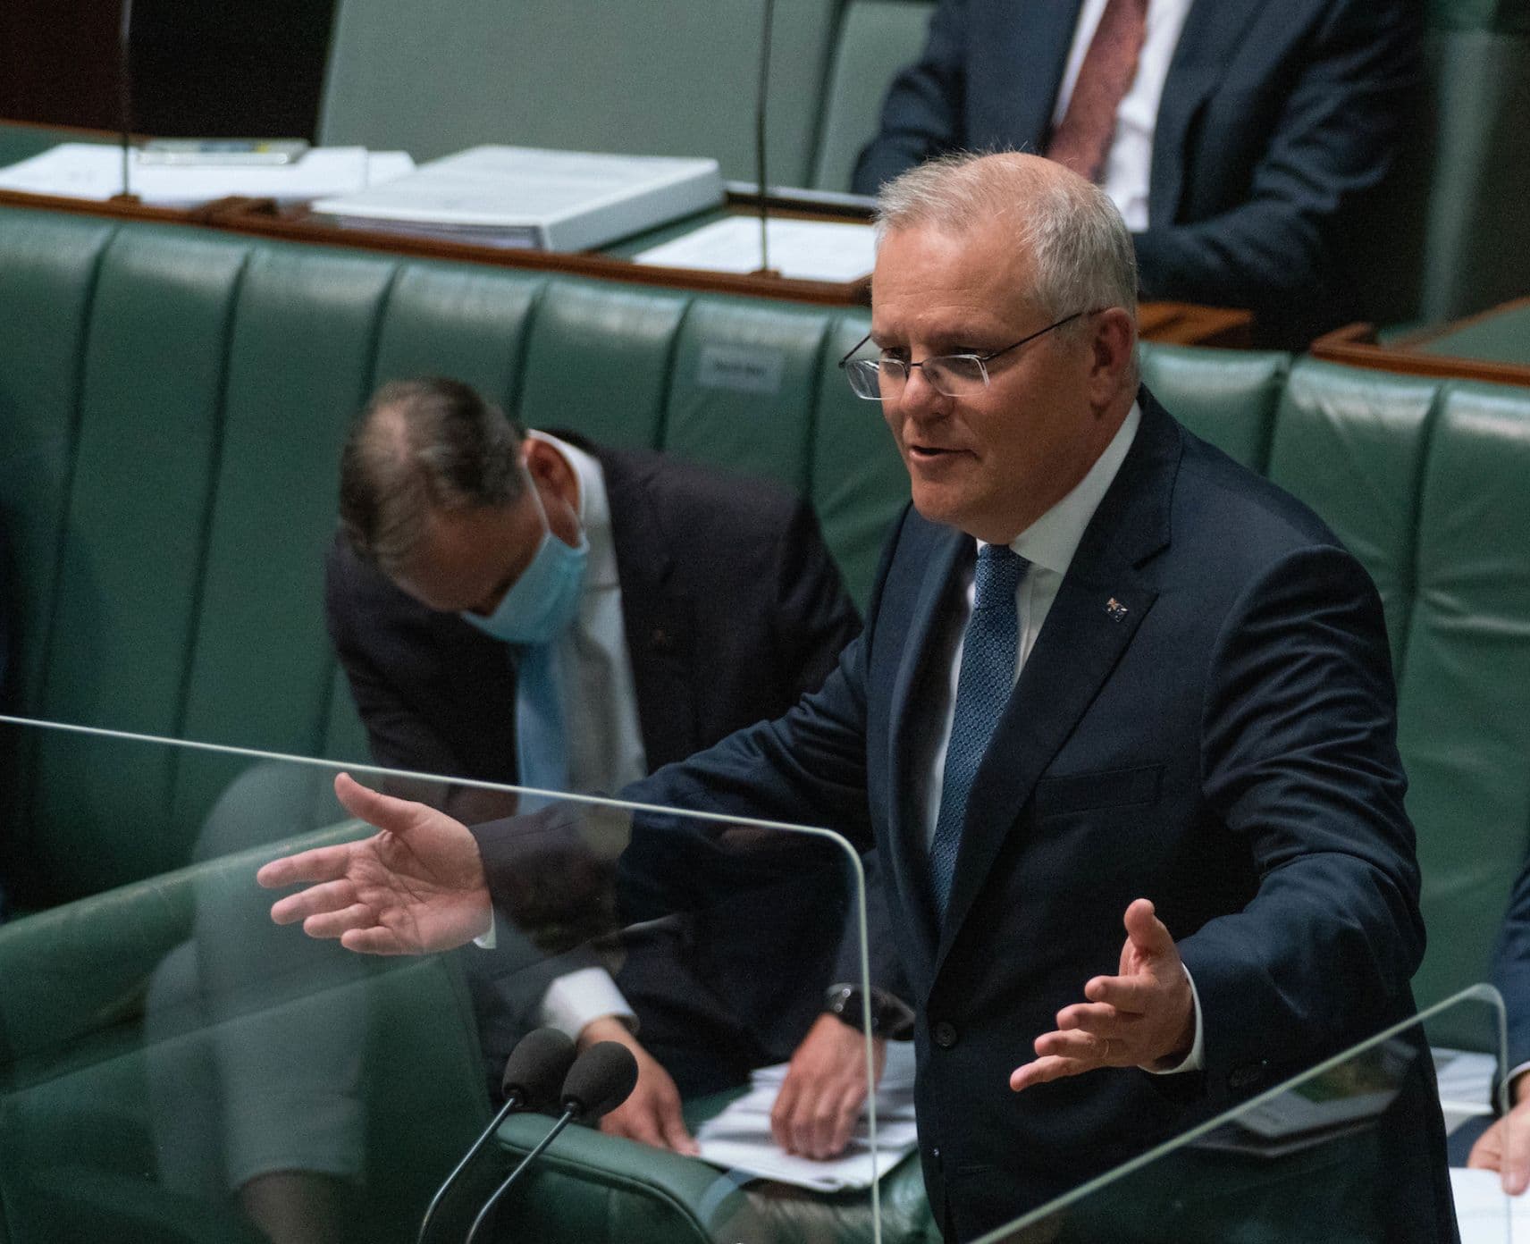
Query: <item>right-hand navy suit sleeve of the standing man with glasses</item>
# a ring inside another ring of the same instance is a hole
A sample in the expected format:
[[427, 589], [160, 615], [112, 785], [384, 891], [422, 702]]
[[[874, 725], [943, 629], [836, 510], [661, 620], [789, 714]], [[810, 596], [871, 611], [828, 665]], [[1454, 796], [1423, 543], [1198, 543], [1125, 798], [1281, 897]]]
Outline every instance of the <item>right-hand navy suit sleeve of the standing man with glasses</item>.
[[1424, 933], [1394, 696], [1380, 600], [1340, 548], [1281, 558], [1222, 626], [1203, 793], [1259, 881], [1180, 943], [1213, 1088], [1405, 1013]]

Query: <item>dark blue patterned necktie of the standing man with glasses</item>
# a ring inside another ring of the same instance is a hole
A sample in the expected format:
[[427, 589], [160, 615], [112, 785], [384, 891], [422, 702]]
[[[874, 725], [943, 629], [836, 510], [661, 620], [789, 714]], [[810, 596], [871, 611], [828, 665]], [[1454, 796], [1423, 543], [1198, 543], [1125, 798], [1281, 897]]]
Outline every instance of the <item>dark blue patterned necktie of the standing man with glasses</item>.
[[967, 820], [967, 796], [1014, 687], [1021, 630], [1014, 589], [1027, 566], [1030, 562], [1004, 545], [978, 549], [976, 592], [956, 676], [956, 713], [946, 748], [941, 811], [930, 840], [930, 892], [942, 921]]

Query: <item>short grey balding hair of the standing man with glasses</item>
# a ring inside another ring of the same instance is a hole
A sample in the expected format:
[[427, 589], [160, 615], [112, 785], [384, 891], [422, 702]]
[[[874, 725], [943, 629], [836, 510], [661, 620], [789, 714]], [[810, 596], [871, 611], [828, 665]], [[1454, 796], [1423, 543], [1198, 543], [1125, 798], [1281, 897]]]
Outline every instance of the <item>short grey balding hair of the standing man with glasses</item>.
[[1036, 262], [1021, 291], [1053, 318], [1106, 306], [1137, 317], [1137, 251], [1115, 204], [1062, 165], [1021, 151], [959, 151], [910, 168], [877, 196], [877, 240], [910, 226], [952, 233], [1014, 220]]

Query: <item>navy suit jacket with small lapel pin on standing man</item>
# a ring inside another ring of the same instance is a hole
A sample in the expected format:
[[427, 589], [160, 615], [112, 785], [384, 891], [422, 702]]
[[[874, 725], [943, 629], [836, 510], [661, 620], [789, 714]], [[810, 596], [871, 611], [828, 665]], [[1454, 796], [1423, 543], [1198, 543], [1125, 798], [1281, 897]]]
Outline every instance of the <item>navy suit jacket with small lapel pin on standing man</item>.
[[[1141, 404], [978, 771], [944, 924], [915, 741], [949, 676], [938, 637], [975, 543], [912, 510], [819, 693], [629, 791], [878, 846], [918, 1010], [926, 1184], [961, 1239], [1412, 1013], [1418, 871], [1377, 594], [1299, 502], [1146, 390]], [[737, 872], [705, 837], [685, 868], [675, 851], [673, 834], [633, 837], [633, 915]], [[1117, 970], [1137, 897], [1198, 988], [1204, 1070], [1011, 1094], [1057, 1010]], [[1447, 1239], [1443, 1134], [1424, 1109], [1409, 1169], [1431, 1204], [1414, 1238]]]

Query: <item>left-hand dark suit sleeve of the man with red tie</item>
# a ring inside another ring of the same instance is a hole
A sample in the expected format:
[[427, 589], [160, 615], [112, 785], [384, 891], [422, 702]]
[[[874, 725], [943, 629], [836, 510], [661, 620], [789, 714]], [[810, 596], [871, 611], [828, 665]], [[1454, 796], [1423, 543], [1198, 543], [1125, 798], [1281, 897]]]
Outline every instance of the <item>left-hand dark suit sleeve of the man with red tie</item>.
[[851, 188], [857, 194], [875, 194], [883, 182], [961, 145], [965, 28], [965, 0], [944, 0], [936, 8], [920, 60], [894, 78], [881, 127], [855, 161]]

